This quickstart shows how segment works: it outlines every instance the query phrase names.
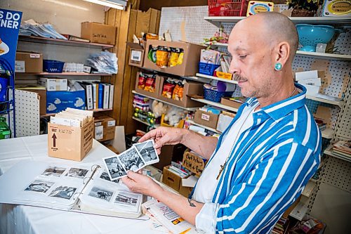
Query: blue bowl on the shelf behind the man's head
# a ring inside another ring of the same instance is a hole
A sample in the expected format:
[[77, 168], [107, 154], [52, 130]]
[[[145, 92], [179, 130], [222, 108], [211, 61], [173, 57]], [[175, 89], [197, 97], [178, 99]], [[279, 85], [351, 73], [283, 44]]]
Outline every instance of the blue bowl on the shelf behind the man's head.
[[315, 52], [318, 43], [327, 44], [335, 33], [333, 26], [329, 25], [296, 25], [298, 39], [303, 46], [300, 51]]

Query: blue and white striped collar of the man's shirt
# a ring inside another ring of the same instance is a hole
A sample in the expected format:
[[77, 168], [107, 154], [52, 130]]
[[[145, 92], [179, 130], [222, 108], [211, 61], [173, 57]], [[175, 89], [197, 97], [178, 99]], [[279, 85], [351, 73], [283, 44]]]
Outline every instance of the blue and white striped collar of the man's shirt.
[[[266, 107], [261, 108], [258, 112], [265, 112], [265, 114], [272, 117], [274, 121], [277, 121], [278, 119], [281, 119], [282, 117], [288, 115], [290, 112], [293, 112], [293, 110], [303, 107], [305, 105], [307, 89], [305, 86], [302, 86], [300, 84], [295, 84], [295, 86], [302, 92], [298, 93], [296, 96], [292, 96], [277, 103], [267, 105]], [[249, 98], [249, 100], [246, 102], [246, 105], [252, 106], [257, 102], [257, 98]]]

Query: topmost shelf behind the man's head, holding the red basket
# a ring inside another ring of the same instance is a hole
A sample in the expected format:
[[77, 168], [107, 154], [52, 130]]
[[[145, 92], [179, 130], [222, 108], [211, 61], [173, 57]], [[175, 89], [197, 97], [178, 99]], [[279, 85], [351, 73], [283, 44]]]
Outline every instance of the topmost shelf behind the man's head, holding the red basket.
[[[239, 22], [246, 17], [242, 16], [208, 16], [204, 20], [211, 22], [211, 24], [220, 27], [222, 22], [234, 23]], [[331, 24], [331, 25], [349, 25], [350, 18], [347, 17], [289, 17], [294, 23], [306, 24]]]

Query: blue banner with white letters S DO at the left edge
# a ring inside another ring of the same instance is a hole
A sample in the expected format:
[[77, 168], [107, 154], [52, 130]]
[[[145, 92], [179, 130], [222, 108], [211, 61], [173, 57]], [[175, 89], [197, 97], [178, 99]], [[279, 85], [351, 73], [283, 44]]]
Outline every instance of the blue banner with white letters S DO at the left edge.
[[9, 77], [15, 73], [15, 57], [21, 18], [22, 12], [0, 8], [0, 70], [7, 73], [7, 76], [0, 77], [0, 102], [6, 100], [8, 84], [14, 85], [14, 79], [9, 79]]

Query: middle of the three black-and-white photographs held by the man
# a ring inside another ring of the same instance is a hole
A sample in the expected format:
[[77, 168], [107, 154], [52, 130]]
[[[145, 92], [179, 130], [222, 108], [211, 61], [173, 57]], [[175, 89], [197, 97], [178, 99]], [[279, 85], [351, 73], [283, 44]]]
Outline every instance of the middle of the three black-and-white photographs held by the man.
[[145, 161], [135, 146], [122, 152], [117, 157], [119, 157], [119, 160], [126, 171], [138, 171], [139, 169], [145, 167]]

